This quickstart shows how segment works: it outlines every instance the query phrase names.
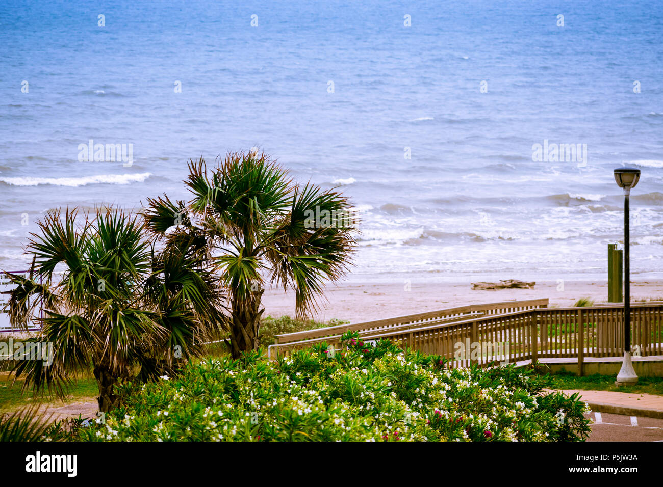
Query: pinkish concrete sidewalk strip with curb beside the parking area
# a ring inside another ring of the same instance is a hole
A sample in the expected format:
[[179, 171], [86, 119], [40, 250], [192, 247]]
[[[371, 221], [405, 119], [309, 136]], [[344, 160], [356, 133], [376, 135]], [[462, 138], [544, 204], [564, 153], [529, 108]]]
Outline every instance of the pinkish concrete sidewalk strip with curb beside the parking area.
[[627, 416], [656, 417], [663, 419], [663, 396], [637, 392], [562, 390], [564, 394], [580, 393], [581, 400], [592, 411], [623, 414]]

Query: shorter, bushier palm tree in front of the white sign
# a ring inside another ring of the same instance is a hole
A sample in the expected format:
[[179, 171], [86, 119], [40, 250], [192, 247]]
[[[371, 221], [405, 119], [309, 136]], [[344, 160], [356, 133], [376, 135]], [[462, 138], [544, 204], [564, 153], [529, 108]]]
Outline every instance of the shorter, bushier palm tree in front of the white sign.
[[54, 351], [48, 366], [17, 362], [24, 388], [62, 398], [74, 372], [91, 366], [99, 410], [109, 411], [120, 380], [172, 373], [177, 359], [200, 354], [194, 339], [217, 336], [222, 302], [211, 272], [186, 246], [156, 248], [138, 215], [101, 207], [79, 219], [76, 209], [58, 209], [38, 227], [26, 251], [29, 277], [7, 274], [18, 285], [8, 303], [12, 325], [40, 324], [31, 341]]

